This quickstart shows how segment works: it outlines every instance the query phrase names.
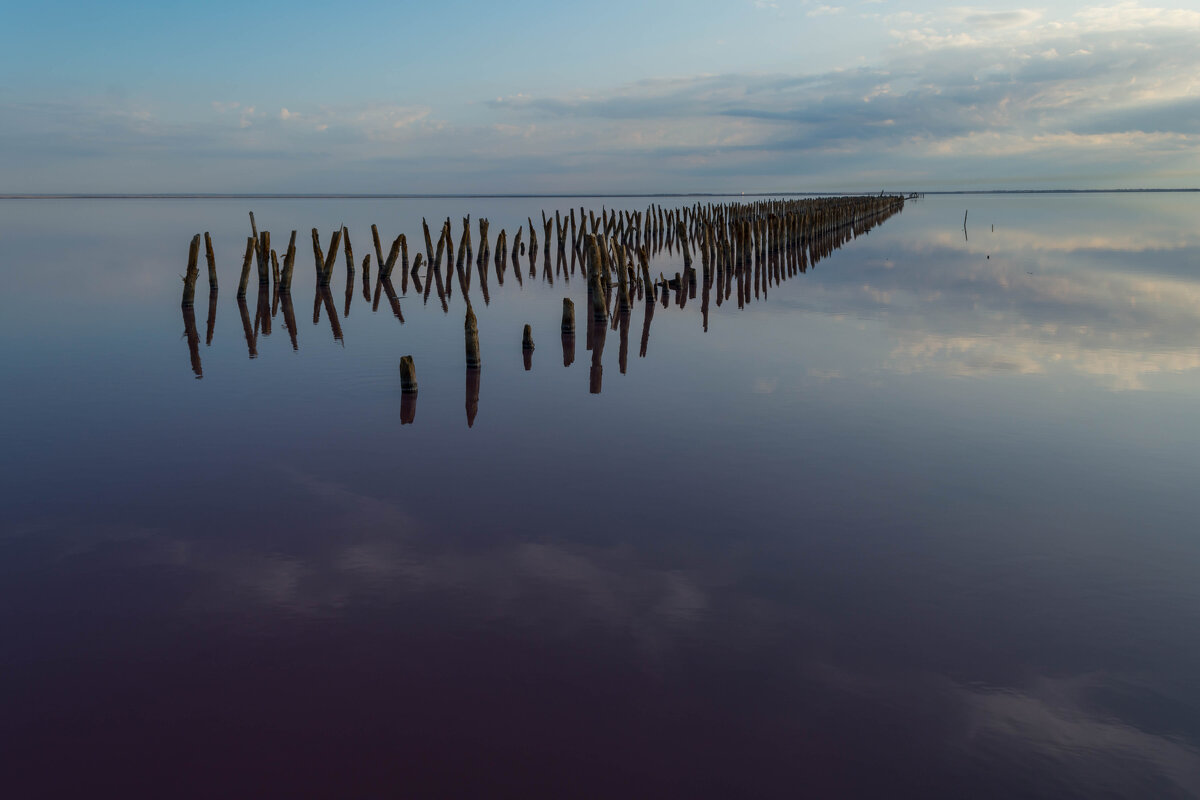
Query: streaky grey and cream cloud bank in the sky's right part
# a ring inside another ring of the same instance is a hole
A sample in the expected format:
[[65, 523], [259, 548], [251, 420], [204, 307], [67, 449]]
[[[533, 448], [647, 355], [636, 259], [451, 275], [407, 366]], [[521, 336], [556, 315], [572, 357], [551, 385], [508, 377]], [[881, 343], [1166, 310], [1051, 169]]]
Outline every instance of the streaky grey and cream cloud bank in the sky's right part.
[[896, 47], [870, 67], [641, 80], [490, 106], [542, 118], [542, 136], [569, 122], [608, 121], [605, 138], [630, 156], [719, 152], [733, 172], [751, 174], [746, 162], [758, 161], [811, 175], [814, 160], [842, 154], [893, 160], [919, 181], [955, 169], [958, 158], [976, 160], [984, 174], [1028, 174], [1067, 155], [1080, 178], [1090, 163], [1153, 174], [1174, 160], [1187, 184], [1200, 174], [1198, 18], [1128, 4], [1068, 24], [1032, 10], [958, 10], [912, 17], [917, 25], [896, 29]]

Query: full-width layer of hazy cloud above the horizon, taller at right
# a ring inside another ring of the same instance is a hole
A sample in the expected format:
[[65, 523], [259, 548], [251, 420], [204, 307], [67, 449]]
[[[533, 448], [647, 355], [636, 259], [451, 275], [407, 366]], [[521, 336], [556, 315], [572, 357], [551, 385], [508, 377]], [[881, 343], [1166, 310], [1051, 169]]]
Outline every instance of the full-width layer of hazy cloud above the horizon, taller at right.
[[[893, 44], [857, 68], [522, 90], [469, 113], [289, 98], [268, 114], [239, 98], [185, 120], [124, 100], [10, 103], [0, 107], [0, 169], [6, 185], [30, 191], [1200, 184], [1200, 12], [967, 7], [868, 23], [890, 30]], [[65, 173], [62, 160], [76, 168]], [[247, 160], [259, 168], [246, 170]], [[144, 185], [150, 176], [175, 184]]]

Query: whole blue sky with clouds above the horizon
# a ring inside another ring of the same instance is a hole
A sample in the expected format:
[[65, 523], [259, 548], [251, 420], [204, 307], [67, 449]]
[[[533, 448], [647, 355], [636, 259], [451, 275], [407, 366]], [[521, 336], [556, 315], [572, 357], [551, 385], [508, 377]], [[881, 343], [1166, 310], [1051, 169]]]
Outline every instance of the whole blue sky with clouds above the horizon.
[[0, 193], [1200, 186], [1200, 1], [4, 5]]

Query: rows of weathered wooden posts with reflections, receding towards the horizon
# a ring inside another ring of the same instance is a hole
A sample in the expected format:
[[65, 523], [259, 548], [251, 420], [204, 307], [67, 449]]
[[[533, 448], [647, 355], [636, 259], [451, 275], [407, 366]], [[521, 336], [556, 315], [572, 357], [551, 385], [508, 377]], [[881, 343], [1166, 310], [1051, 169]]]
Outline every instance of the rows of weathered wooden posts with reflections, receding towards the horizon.
[[[601, 368], [600, 353], [604, 348], [606, 331], [620, 330], [620, 371], [625, 372], [628, 354], [628, 331], [630, 311], [636, 300], [644, 300], [646, 317], [642, 331], [641, 355], [644, 357], [649, 324], [656, 302], [664, 308], [676, 305], [684, 308], [689, 300], [701, 290], [701, 317], [703, 327], [708, 330], [710, 300], [720, 306], [730, 301], [737, 293], [738, 307], [742, 308], [751, 297], [766, 296], [769, 288], [797, 273], [806, 272], [818, 260], [829, 255], [846, 241], [869, 231], [889, 216], [904, 207], [905, 198], [900, 196], [875, 197], [835, 197], [805, 198], [787, 200], [761, 200], [755, 203], [731, 204], [695, 204], [680, 209], [649, 206], [644, 212], [608, 211], [602, 209], [596, 216], [586, 209], [580, 209], [578, 223], [575, 209], [568, 213], [556, 211], [553, 217], [542, 212], [544, 231], [544, 278], [553, 283], [556, 277], [569, 281], [578, 272], [587, 281], [587, 308], [592, 324], [588, 325], [588, 349], [593, 353], [592, 375], [589, 379], [593, 392], [600, 391]], [[250, 213], [251, 236], [246, 240], [246, 249], [238, 284], [238, 303], [241, 311], [247, 347], [251, 357], [257, 355], [256, 342], [259, 330], [270, 333], [270, 320], [282, 306], [284, 325], [296, 344], [295, 314], [292, 307], [292, 281], [295, 267], [295, 239], [293, 230], [284, 251], [282, 265], [277, 252], [271, 248], [271, 234], [259, 231], [253, 212]], [[518, 228], [511, 246], [505, 230], [496, 237], [496, 252], [488, 243], [488, 221], [481, 218], [479, 224], [479, 249], [472, 242], [470, 218], [463, 218], [462, 234], [457, 247], [452, 235], [450, 219], [442, 225], [437, 246], [430, 234], [430, 227], [421, 221], [425, 237], [425, 253], [416, 253], [409, 265], [408, 242], [403, 234], [396, 236], [384, 257], [382, 240], [376, 225], [371, 227], [376, 263], [373, 309], [378, 309], [380, 294], [388, 297], [392, 313], [401, 323], [404, 321], [400, 299], [392, 284], [395, 267], [401, 267], [401, 293], [408, 294], [408, 283], [424, 301], [428, 302], [432, 289], [444, 312], [449, 312], [449, 299], [452, 296], [451, 279], [443, 279], [442, 264], [445, 257], [448, 278], [456, 277], [460, 291], [466, 300], [464, 342], [468, 373], [476, 372], [482, 365], [479, 349], [479, 325], [470, 300], [472, 259], [479, 276], [479, 294], [485, 303], [490, 303], [487, 288], [488, 266], [494, 263], [497, 282], [503, 284], [508, 264], [511, 259], [514, 275], [521, 281], [518, 259], [527, 253], [522, 242], [524, 227]], [[538, 230], [533, 219], [528, 219], [529, 243], [528, 259], [530, 276], [536, 276]], [[551, 269], [552, 241], [557, 239], [557, 258]], [[199, 247], [202, 236], [197, 234], [188, 249], [187, 273], [184, 277], [184, 320], [188, 338], [192, 368], [197, 377], [202, 375], [199, 362], [199, 335], [192, 307], [196, 297], [196, 283], [199, 277]], [[215, 324], [217, 273], [216, 259], [212, 252], [211, 237], [203, 235], [205, 258], [209, 272], [209, 320], [208, 342], [211, 343]], [[344, 253], [347, 266], [346, 314], [349, 314], [350, 300], [355, 285], [355, 259], [350, 243], [349, 230], [340, 227], [332, 231], [328, 249], [322, 246], [318, 230], [312, 229], [313, 261], [316, 265], [317, 295], [313, 305], [313, 321], [318, 323], [324, 307], [334, 331], [335, 339], [342, 338], [341, 325], [334, 306], [330, 283], [336, 265], [338, 249]], [[674, 277], [661, 272], [655, 278], [650, 273], [652, 259], [661, 253], [678, 253], [683, 259], [683, 271]], [[700, 270], [694, 266], [700, 258]], [[424, 289], [421, 283], [422, 257], [425, 263]], [[258, 312], [251, 325], [246, 307], [246, 288], [250, 282], [251, 265], [257, 265], [258, 272]], [[452, 265], [452, 266], [451, 266]], [[371, 301], [371, 253], [361, 261], [362, 294]], [[672, 296], [673, 295], [673, 296]], [[563, 300], [563, 319], [560, 326], [563, 337], [563, 363], [570, 366], [575, 359], [575, 305], [569, 299]], [[524, 326], [522, 335], [522, 354], [526, 368], [532, 366], [533, 331]], [[415, 397], [415, 365], [410, 356], [401, 362], [404, 393]], [[468, 375], [468, 384], [470, 383]], [[474, 380], [478, 403], [478, 375]], [[469, 390], [469, 386], [468, 386]], [[415, 401], [414, 401], [415, 403]], [[468, 407], [469, 407], [468, 391]], [[415, 408], [415, 405], [414, 405]], [[468, 416], [472, 415], [468, 413]]]

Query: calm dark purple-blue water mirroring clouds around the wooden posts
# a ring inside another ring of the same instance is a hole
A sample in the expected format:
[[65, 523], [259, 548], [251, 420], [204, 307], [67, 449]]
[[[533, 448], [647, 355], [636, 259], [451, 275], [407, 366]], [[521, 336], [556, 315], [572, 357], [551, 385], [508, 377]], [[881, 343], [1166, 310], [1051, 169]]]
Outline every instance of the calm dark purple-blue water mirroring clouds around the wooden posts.
[[0, 204], [0, 795], [1200, 794], [1200, 198], [913, 201], [600, 393], [510, 271], [473, 427], [457, 285], [313, 323], [313, 225], [569, 203]]

